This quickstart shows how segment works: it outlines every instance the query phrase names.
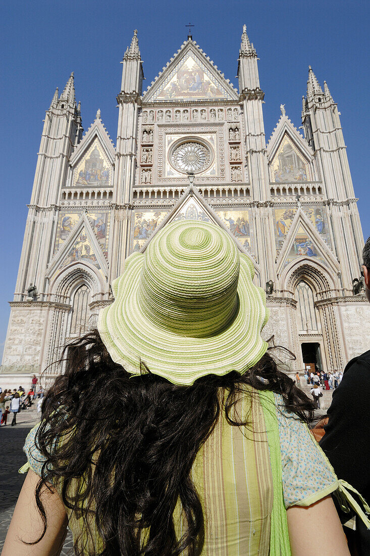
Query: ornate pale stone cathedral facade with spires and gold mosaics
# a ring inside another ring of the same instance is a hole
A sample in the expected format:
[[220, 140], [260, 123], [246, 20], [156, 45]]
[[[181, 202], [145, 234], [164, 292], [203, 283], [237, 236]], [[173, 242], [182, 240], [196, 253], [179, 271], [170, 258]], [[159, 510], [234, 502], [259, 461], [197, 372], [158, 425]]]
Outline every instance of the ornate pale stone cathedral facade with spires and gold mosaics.
[[[214, 222], [266, 288], [266, 338], [293, 372], [342, 370], [370, 312], [353, 280], [363, 234], [336, 103], [309, 68], [304, 136], [284, 106], [266, 141], [257, 53], [243, 28], [238, 90], [188, 36], [142, 91], [137, 33], [123, 57], [113, 144], [83, 135], [73, 74], [46, 112], [1, 373], [41, 373], [112, 302], [125, 258], [174, 220]], [[356, 284], [356, 282], [355, 282]], [[49, 368], [48, 374], [56, 369]]]

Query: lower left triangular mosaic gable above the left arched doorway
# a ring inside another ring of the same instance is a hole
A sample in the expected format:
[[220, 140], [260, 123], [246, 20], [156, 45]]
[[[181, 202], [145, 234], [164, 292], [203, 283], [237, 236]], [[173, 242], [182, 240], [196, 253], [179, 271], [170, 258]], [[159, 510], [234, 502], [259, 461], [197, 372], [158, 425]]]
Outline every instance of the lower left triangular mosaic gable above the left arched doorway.
[[81, 216], [69, 237], [54, 255], [47, 276], [55, 275], [56, 272], [74, 262], [85, 262], [100, 270], [104, 276], [107, 274], [107, 258], [86, 214]]

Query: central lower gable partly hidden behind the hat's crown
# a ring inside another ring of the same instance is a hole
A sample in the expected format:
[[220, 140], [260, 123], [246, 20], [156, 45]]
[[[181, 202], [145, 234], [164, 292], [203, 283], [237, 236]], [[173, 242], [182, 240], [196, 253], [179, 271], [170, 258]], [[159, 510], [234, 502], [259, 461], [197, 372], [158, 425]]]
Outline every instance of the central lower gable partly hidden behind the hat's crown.
[[146, 250], [149, 242], [151, 242], [153, 237], [158, 234], [159, 230], [162, 230], [162, 228], [170, 222], [176, 222], [178, 220], [201, 220], [203, 222], [211, 222], [211, 224], [220, 226], [224, 231], [227, 232], [229, 236], [232, 237], [237, 245], [238, 250], [241, 251], [244, 255], [247, 255], [249, 259], [251, 259], [256, 271], [258, 273], [260, 272], [259, 266], [249, 252], [249, 249], [244, 247], [243, 244], [238, 241], [237, 237], [232, 233], [230, 227], [227, 226], [227, 222], [224, 222], [223, 219], [216, 214], [213, 208], [208, 205], [208, 203], [199, 193], [197, 187], [193, 185], [189, 185], [186, 191], [184, 191], [177, 205], [175, 205], [173, 209], [168, 213], [168, 215], [162, 220], [161, 224], [157, 226], [153, 235], [143, 245], [140, 252], [143, 253]]

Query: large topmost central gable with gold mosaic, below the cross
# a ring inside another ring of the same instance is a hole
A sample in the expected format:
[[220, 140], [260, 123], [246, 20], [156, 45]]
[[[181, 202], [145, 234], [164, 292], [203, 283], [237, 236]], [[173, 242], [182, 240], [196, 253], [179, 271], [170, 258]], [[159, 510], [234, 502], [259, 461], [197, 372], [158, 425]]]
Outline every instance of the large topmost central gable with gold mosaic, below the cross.
[[238, 100], [238, 92], [195, 41], [182, 44], [143, 94], [143, 102]]

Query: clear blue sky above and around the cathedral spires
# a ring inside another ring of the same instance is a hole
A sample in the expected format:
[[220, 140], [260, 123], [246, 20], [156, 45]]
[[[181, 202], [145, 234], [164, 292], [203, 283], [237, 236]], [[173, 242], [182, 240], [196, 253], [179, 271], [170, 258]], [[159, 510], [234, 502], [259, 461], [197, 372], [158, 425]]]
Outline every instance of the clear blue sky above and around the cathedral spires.
[[265, 91], [266, 137], [285, 103], [301, 125], [302, 95], [311, 64], [327, 81], [341, 112], [354, 191], [364, 236], [370, 235], [368, 207], [368, 28], [369, 2], [311, 0], [12, 0], [0, 8], [2, 36], [1, 108], [3, 241], [0, 275], [0, 350], [6, 336], [21, 255], [27, 203], [31, 197], [42, 120], [56, 87], [61, 91], [74, 71], [85, 130], [97, 108], [116, 142], [116, 95], [123, 53], [138, 29], [144, 87], [187, 38], [193, 38], [237, 87], [238, 49], [243, 23], [257, 49]]

